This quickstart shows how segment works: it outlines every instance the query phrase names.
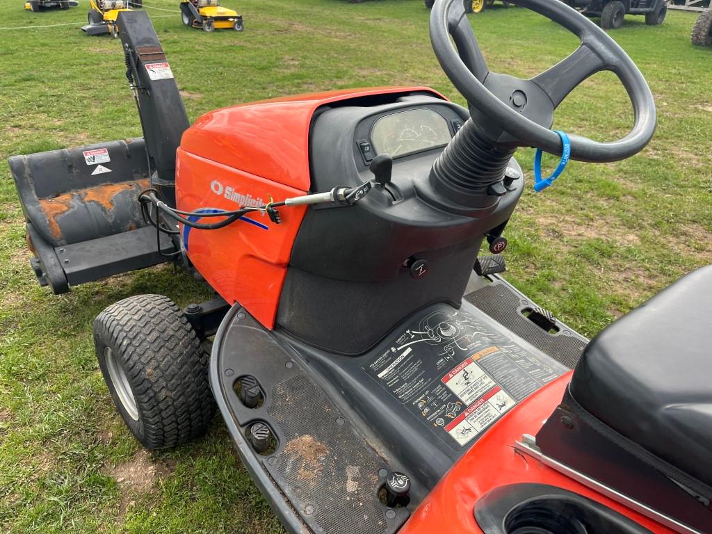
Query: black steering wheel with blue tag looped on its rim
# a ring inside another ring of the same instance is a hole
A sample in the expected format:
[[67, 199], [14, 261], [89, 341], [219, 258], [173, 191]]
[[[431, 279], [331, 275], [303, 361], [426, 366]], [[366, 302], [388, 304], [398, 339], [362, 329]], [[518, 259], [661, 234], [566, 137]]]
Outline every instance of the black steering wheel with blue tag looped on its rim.
[[484, 130], [483, 135], [495, 144], [537, 147], [561, 155], [562, 140], [550, 130], [554, 110], [586, 78], [611, 70], [633, 105], [633, 129], [614, 142], [570, 135], [571, 158], [612, 162], [643, 150], [655, 131], [655, 103], [645, 78], [627, 53], [601, 28], [560, 0], [510, 1], [560, 24], [581, 44], [563, 61], [530, 80], [492, 73], [462, 0], [436, 0], [430, 18], [433, 50], [448, 78], [470, 103], [473, 120]]

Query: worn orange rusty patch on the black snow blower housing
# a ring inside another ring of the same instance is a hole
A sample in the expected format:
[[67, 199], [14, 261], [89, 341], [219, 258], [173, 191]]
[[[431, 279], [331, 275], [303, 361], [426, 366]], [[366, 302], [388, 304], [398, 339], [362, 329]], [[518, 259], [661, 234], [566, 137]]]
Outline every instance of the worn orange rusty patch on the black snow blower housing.
[[150, 187], [149, 179], [135, 180], [133, 182], [122, 182], [120, 184], [101, 184], [86, 189], [75, 189], [74, 191], [58, 195], [52, 199], [39, 199], [42, 211], [47, 217], [49, 229], [56, 239], [62, 239], [62, 229], [59, 226], [59, 219], [72, 209], [73, 200], [78, 204], [85, 202], [95, 202], [106, 211], [112, 210], [114, 199], [117, 194], [134, 189], [136, 194], [143, 189]]

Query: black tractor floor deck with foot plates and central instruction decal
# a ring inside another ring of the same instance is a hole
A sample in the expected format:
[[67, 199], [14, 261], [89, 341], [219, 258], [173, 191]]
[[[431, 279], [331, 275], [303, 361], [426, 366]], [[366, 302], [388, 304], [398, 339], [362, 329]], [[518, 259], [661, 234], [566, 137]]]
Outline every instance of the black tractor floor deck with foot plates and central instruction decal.
[[[356, 357], [269, 332], [239, 305], [228, 313], [211, 385], [244, 464], [291, 531], [395, 532], [483, 429], [575, 365], [584, 337], [555, 320], [554, 333], [534, 325], [522, 313], [535, 305], [502, 279], [473, 276], [470, 289], [459, 310], [421, 310]], [[256, 424], [273, 436], [262, 453]], [[407, 506], [379, 498], [392, 471], [411, 479]]]

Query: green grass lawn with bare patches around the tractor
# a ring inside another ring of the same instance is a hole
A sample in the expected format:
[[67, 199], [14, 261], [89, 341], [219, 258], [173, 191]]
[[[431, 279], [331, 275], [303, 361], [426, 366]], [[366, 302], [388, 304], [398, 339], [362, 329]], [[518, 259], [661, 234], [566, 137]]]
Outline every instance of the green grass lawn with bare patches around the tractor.
[[[281, 532], [219, 417], [204, 439], [147, 454], [98, 370], [91, 322], [105, 306], [135, 293], [185, 305], [204, 289], [167, 266], [60, 297], [36, 284], [6, 158], [141, 130], [119, 43], [79, 30], [88, 2], [39, 14], [22, 4], [0, 0], [0, 533]], [[463, 103], [431, 51], [421, 0], [225, 0], [246, 31], [213, 34], [184, 28], [169, 13], [177, 0], [145, 4], [192, 120], [233, 103], [365, 85], [430, 85]], [[691, 46], [695, 19], [671, 12], [650, 27], [628, 17], [612, 33], [656, 96], [656, 137], [624, 162], [573, 162], [543, 194], [528, 187], [508, 229], [508, 279], [586, 335], [712, 263], [712, 49]], [[500, 72], [534, 75], [577, 46], [523, 9], [495, 6], [471, 22]], [[68, 25], [6, 29], [50, 24]], [[597, 140], [631, 124], [609, 73], [572, 93], [556, 122]], [[533, 151], [518, 157], [531, 182]]]

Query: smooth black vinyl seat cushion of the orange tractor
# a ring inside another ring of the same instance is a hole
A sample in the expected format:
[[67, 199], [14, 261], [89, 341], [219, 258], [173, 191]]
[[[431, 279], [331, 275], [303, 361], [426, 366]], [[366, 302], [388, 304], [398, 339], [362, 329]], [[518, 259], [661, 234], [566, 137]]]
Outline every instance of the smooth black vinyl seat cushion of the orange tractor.
[[712, 486], [712, 266], [597, 335], [570, 392], [604, 424]]

